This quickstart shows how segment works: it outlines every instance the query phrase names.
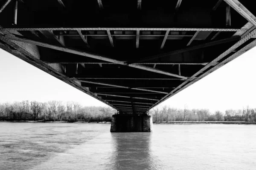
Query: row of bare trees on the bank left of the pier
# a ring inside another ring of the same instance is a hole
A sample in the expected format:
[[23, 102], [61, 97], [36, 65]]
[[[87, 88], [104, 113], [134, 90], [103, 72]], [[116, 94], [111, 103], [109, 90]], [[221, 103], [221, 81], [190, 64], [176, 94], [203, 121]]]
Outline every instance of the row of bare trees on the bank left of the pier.
[[82, 107], [77, 102], [21, 101], [0, 104], [2, 120], [46, 120], [46, 121], [111, 121], [116, 113], [111, 107]]

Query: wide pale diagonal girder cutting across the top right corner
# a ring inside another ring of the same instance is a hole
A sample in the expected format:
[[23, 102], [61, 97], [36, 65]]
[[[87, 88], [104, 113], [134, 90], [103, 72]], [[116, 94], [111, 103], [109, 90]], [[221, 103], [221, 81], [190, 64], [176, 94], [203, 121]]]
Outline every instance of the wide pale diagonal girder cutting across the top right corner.
[[256, 17], [238, 0], [224, 0], [228, 5], [235, 9], [239, 14], [241, 14], [245, 19], [250, 21], [256, 26]]

